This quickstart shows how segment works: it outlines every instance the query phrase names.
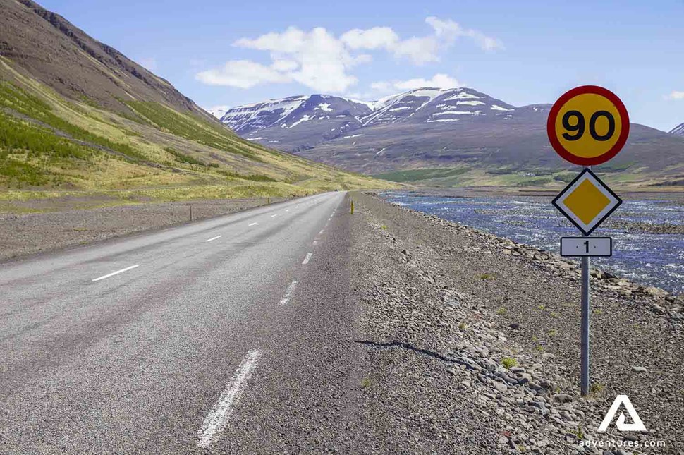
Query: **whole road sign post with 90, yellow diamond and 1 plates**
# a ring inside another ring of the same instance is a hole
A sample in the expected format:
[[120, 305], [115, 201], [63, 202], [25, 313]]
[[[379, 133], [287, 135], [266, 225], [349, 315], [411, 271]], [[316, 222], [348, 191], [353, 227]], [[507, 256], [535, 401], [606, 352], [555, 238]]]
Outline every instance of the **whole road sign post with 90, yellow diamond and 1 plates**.
[[561, 255], [582, 257], [580, 391], [590, 392], [590, 257], [613, 254], [611, 238], [590, 237], [622, 200], [591, 171], [622, 150], [630, 131], [627, 109], [610, 90], [584, 85], [563, 94], [549, 111], [546, 132], [556, 153], [585, 169], [554, 198], [553, 205], [582, 232], [561, 238]]

